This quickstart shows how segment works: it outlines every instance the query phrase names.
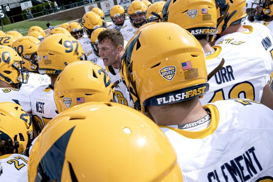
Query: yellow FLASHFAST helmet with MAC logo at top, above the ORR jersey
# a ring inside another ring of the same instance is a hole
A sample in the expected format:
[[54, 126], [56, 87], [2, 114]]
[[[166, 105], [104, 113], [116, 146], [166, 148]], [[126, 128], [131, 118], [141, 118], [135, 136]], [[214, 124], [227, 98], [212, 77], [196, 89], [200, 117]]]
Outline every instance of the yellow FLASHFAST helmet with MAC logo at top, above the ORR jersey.
[[217, 33], [217, 9], [214, 0], [168, 0], [161, 15], [163, 21], [180, 25], [192, 35], [210, 35], [213, 41]]

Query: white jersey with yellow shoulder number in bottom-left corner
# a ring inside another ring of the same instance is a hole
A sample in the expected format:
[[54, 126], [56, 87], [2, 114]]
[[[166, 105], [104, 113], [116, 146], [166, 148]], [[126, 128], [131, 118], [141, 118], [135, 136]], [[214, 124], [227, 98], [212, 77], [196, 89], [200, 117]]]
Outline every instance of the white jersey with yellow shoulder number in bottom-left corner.
[[2, 182], [27, 182], [29, 158], [21, 154], [6, 154], [0, 157], [2, 171], [0, 181]]

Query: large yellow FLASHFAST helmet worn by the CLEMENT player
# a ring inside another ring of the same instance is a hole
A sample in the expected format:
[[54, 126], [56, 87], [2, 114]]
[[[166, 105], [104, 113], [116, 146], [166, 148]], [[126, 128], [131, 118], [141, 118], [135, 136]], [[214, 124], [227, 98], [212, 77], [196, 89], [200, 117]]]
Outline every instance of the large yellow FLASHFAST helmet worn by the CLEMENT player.
[[145, 106], [177, 103], [207, 92], [204, 51], [193, 35], [167, 22], [138, 31], [121, 62], [122, 78], [137, 110], [145, 112]]

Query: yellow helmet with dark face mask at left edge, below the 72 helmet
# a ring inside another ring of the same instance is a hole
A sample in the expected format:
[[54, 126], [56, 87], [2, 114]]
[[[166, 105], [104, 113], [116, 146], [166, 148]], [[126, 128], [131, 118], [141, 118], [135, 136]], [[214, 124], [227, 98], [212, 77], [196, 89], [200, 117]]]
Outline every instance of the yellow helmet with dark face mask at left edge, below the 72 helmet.
[[10, 83], [28, 83], [29, 72], [19, 54], [12, 48], [0, 45], [0, 80]]

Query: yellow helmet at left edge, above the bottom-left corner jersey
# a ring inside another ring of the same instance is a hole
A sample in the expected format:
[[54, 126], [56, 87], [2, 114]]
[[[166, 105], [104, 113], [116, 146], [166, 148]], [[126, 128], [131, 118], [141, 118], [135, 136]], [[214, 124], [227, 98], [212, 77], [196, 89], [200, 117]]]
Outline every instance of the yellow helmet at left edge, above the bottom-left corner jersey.
[[27, 154], [24, 151], [34, 139], [28, 113], [18, 104], [3, 102], [0, 103], [0, 121], [0, 138], [12, 140], [14, 153]]

